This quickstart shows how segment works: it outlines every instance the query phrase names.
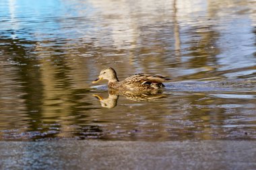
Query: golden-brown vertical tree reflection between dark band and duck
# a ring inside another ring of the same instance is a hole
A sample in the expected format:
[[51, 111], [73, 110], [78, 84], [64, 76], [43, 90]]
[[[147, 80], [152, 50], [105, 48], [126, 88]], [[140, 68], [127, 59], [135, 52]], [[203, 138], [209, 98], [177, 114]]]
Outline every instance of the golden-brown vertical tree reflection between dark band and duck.
[[[72, 62], [73, 58], [75, 58], [71, 54], [72, 48], [69, 50], [45, 46], [48, 43], [53, 42], [42, 42], [42, 45], [37, 44], [36, 46], [38, 56], [43, 56], [45, 51], [51, 52], [48, 56], [40, 59], [42, 84], [44, 85], [43, 119], [50, 120], [50, 122], [58, 120], [57, 124], [60, 124], [61, 127], [55, 136], [72, 137], [74, 135], [72, 132], [80, 131], [84, 127], [71, 126], [73, 122], [79, 122], [80, 116], [77, 117], [77, 114], [90, 110], [90, 108], [80, 108], [81, 105], [83, 107], [90, 106], [90, 103], [84, 101], [84, 96], [82, 95], [83, 93], [88, 93], [88, 89], [73, 87], [75, 79], [82, 79], [79, 76], [84, 75], [82, 73], [84, 70], [83, 64], [85, 63]], [[54, 43], [57, 44], [57, 42]], [[91, 44], [86, 44], [86, 46], [90, 47]], [[80, 50], [80, 48], [77, 50]], [[86, 51], [87, 48], [81, 47], [81, 50]], [[67, 51], [70, 53], [66, 54]], [[69, 117], [71, 117], [71, 120], [67, 121]], [[49, 124], [49, 127], [51, 127], [51, 124]], [[85, 129], [90, 130], [90, 128]], [[93, 129], [96, 130], [96, 127]], [[82, 132], [84, 131], [82, 130]]]

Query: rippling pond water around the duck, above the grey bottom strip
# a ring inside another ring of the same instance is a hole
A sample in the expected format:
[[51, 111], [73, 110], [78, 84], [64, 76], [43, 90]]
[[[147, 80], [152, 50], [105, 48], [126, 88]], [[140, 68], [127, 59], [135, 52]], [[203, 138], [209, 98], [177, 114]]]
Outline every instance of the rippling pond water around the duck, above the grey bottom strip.
[[[0, 1], [0, 140], [255, 140], [255, 7]], [[108, 93], [104, 67], [172, 81]]]

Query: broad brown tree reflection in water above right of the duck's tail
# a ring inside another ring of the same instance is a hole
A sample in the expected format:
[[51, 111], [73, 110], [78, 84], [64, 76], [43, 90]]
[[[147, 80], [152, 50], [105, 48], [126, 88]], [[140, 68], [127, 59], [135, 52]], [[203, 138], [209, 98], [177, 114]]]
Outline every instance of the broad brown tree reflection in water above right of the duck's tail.
[[189, 48], [185, 49], [186, 53], [183, 55], [192, 58], [183, 65], [185, 68], [191, 69], [191, 75], [185, 75], [182, 79], [216, 77], [214, 70], [218, 69], [216, 67], [218, 65], [216, 56], [219, 54], [219, 50], [216, 48], [218, 32], [212, 29], [212, 26], [193, 26], [187, 32], [191, 34], [191, 38], [185, 42]]

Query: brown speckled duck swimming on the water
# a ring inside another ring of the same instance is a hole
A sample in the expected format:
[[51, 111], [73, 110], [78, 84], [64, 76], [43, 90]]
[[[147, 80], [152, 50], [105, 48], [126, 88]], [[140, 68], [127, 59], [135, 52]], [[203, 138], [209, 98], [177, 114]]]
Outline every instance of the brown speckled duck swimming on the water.
[[170, 80], [170, 78], [162, 75], [148, 75], [138, 73], [130, 75], [123, 81], [117, 78], [117, 72], [112, 67], [102, 69], [98, 78], [92, 83], [98, 83], [100, 80], [108, 81], [108, 89], [117, 89], [123, 91], [152, 91], [164, 87], [162, 82]]

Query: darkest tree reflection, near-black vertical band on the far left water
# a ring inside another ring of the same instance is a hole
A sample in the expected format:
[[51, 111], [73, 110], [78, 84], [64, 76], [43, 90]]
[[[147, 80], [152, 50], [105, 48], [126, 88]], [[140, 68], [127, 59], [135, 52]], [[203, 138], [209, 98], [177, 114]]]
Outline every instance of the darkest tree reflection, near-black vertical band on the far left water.
[[[1, 41], [5, 44], [2, 47], [3, 53], [16, 63], [12, 65], [17, 68], [17, 75], [13, 79], [20, 83], [18, 91], [24, 93], [22, 99], [26, 105], [25, 112], [30, 115], [32, 120], [40, 120], [43, 98], [40, 67], [38, 67], [36, 57], [30, 54], [33, 48], [26, 48], [26, 46], [34, 46], [34, 42], [18, 39], [3, 39]], [[15, 93], [13, 91], [12, 95]], [[37, 123], [37, 121], [30, 121], [30, 128], [38, 128]]]

